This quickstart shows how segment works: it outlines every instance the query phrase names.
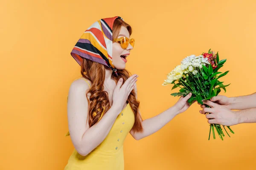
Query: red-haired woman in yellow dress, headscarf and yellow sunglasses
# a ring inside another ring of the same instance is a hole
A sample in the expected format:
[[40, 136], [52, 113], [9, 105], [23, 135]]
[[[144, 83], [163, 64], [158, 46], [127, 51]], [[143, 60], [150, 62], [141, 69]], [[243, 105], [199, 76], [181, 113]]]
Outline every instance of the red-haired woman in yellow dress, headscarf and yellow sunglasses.
[[125, 70], [134, 47], [131, 26], [121, 17], [94, 23], [81, 36], [71, 55], [82, 77], [73, 81], [67, 102], [68, 125], [75, 147], [65, 170], [124, 170], [123, 142], [149, 136], [189, 108], [191, 94], [163, 113], [142, 120], [135, 82]]

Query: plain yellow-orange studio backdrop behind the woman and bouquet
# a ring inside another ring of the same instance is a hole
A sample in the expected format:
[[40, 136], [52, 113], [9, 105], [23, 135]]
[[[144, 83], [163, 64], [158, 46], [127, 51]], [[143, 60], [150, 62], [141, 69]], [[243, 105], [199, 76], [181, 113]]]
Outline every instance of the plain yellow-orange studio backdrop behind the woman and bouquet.
[[[0, 170], [63, 170], [73, 145], [67, 94], [80, 68], [70, 51], [92, 23], [119, 15], [136, 44], [127, 68], [138, 74], [143, 119], [177, 101], [166, 74], [191, 54], [219, 51], [230, 70], [227, 96], [255, 92], [254, 0], [4, 0], [0, 6]], [[223, 93], [221, 93], [223, 94]], [[125, 170], [255, 169], [256, 124], [208, 141], [199, 105], [140, 141], [125, 140]], [[212, 137], [211, 137], [212, 138]], [[99, 160], [100, 161], [100, 160]]]

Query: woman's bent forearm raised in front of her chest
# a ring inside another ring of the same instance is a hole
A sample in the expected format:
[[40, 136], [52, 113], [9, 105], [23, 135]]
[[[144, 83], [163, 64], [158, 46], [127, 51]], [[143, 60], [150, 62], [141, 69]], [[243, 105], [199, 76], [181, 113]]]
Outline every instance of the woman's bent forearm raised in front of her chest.
[[80, 142], [80, 149], [83, 156], [90, 153], [103, 142], [120, 112], [119, 108], [111, 107], [98, 123], [85, 131]]

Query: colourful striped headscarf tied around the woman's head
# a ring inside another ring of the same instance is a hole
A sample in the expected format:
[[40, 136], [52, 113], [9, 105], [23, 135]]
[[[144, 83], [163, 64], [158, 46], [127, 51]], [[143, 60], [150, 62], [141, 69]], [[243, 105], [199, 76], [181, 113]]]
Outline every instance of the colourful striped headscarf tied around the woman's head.
[[71, 51], [72, 57], [79, 65], [83, 61], [82, 58], [86, 58], [106, 65], [116, 73], [116, 68], [112, 62], [112, 29], [117, 18], [122, 19], [118, 16], [101, 19], [84, 31]]

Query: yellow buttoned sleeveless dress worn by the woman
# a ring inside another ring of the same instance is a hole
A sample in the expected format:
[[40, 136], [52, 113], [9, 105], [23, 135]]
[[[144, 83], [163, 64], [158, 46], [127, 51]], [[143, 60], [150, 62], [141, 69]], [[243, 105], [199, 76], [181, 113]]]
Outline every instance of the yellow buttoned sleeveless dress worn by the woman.
[[134, 113], [128, 103], [104, 141], [87, 156], [81, 156], [74, 149], [64, 170], [124, 170], [123, 142], [133, 125]]

